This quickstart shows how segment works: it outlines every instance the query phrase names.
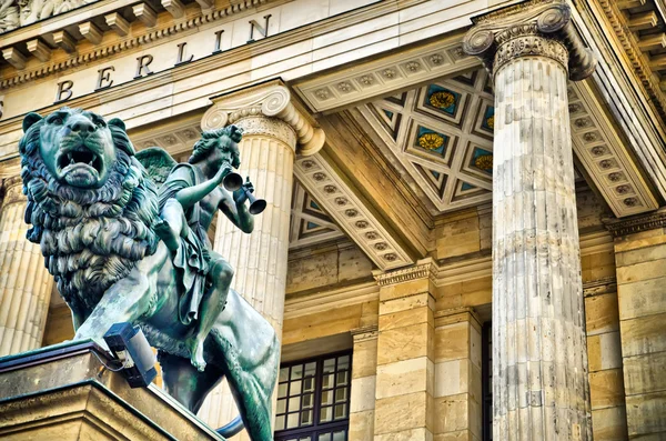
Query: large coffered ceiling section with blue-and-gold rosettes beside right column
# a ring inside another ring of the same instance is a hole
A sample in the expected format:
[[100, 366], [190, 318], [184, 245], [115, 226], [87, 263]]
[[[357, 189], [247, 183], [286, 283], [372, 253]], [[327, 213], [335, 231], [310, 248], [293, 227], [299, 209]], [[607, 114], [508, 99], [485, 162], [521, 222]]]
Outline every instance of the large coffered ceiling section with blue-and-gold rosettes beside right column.
[[484, 69], [359, 108], [441, 212], [492, 200], [494, 97]]

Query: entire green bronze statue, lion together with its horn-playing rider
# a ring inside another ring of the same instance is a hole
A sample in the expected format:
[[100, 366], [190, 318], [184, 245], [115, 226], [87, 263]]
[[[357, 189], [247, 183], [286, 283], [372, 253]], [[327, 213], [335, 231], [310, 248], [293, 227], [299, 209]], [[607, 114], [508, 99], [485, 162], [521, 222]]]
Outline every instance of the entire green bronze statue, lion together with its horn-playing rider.
[[105, 347], [113, 323], [139, 324], [172, 397], [196, 413], [226, 377], [251, 439], [272, 440], [278, 339], [230, 289], [233, 270], [206, 235], [218, 210], [253, 229], [252, 184], [233, 193], [220, 187], [240, 164], [240, 130], [204, 132], [188, 164], [159, 148], [134, 154], [122, 121], [79, 109], [29, 113], [23, 131], [27, 237], [41, 245], [75, 339]]

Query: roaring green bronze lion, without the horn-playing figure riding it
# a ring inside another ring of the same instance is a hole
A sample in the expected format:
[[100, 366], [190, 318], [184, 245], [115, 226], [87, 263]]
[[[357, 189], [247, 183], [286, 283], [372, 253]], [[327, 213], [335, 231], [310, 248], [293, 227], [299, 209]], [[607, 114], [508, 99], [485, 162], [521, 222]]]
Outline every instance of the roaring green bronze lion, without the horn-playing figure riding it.
[[[29, 113], [19, 143], [28, 197], [28, 240], [39, 243], [72, 311], [75, 339], [102, 339], [117, 322], [139, 324], [158, 349], [167, 392], [196, 413], [226, 377], [252, 440], [272, 440], [271, 394], [279, 343], [270, 323], [230, 290], [204, 341], [203, 372], [184, 343], [192, 327], [179, 317], [182, 284], [164, 242], [158, 189], [119, 119], [62, 108]], [[231, 435], [240, 420], [220, 429]]]

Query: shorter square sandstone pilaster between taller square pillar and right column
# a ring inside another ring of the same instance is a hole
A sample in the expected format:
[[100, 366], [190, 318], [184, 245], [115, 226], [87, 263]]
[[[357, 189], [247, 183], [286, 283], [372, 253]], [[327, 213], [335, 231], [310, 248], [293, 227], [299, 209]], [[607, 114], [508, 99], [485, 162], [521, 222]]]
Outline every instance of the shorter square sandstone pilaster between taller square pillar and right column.
[[481, 323], [471, 308], [435, 313], [434, 435], [482, 439]]

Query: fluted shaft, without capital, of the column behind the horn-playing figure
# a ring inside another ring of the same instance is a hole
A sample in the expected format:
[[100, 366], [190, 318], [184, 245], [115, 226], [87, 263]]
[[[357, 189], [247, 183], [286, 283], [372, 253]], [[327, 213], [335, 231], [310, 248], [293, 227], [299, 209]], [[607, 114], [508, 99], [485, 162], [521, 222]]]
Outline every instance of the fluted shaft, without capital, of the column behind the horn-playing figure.
[[[234, 124], [244, 131], [239, 144], [239, 173], [250, 177], [254, 194], [265, 199], [266, 209], [254, 218], [251, 234], [220, 216], [214, 249], [234, 269], [232, 288], [282, 339], [296, 137], [285, 122], [264, 116], [243, 118]], [[238, 410], [226, 384], [215, 388], [200, 411], [201, 418], [213, 427], [231, 421], [235, 414]]]

